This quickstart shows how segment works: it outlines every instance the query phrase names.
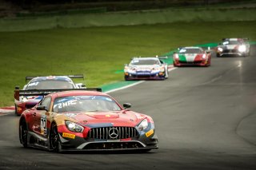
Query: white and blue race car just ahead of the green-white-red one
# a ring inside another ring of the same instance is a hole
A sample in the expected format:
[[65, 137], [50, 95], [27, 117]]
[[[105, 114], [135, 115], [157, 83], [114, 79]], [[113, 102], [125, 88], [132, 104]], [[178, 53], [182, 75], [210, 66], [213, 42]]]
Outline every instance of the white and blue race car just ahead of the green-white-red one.
[[134, 57], [129, 65], [125, 65], [125, 80], [166, 79], [168, 77], [167, 64], [160, 59], [160, 57]]

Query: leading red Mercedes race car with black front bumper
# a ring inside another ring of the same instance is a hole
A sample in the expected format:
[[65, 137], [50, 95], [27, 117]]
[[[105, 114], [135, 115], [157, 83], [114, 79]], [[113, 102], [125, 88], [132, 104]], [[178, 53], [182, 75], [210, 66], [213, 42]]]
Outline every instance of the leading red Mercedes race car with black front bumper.
[[129, 103], [122, 107], [106, 93], [87, 90], [22, 91], [25, 96], [50, 94], [22, 113], [21, 144], [53, 152], [158, 148], [150, 116], [128, 110]]

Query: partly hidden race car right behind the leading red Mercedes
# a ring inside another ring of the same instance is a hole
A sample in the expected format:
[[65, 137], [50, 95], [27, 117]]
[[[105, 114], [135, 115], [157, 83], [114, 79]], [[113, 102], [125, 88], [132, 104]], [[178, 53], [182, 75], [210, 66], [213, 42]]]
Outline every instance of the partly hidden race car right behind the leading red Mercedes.
[[[83, 89], [86, 88], [82, 83], [74, 84], [71, 78], [83, 78], [82, 74], [70, 76], [48, 76], [48, 77], [26, 77], [26, 81], [30, 80], [24, 85], [23, 90], [34, 89]], [[18, 86], [15, 89], [19, 89]], [[30, 109], [37, 105], [42, 100], [42, 96], [27, 96], [20, 95], [14, 97], [15, 114], [21, 115], [25, 109]]]

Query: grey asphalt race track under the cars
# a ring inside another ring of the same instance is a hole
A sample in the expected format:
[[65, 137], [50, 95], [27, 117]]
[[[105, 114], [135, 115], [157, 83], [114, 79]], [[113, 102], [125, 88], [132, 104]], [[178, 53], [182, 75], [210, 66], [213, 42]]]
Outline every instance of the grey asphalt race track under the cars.
[[0, 169], [256, 169], [256, 46], [110, 93], [154, 118], [159, 149], [58, 154], [22, 148], [18, 118], [0, 117]]

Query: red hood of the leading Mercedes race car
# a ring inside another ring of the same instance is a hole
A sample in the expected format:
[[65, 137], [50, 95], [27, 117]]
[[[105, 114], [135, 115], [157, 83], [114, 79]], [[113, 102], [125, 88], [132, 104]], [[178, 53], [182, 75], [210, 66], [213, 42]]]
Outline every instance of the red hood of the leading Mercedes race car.
[[118, 112], [66, 113], [66, 117], [73, 119], [80, 125], [111, 124], [114, 126], [136, 126], [146, 118], [146, 115], [122, 110]]

